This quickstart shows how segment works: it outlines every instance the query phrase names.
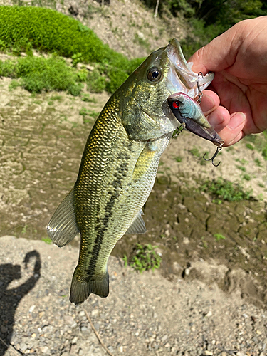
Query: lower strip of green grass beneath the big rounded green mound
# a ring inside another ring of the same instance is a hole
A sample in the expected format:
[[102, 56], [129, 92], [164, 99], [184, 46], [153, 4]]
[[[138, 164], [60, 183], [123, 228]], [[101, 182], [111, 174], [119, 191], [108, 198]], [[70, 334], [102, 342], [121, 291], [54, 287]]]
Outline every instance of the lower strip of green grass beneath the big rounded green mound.
[[[85, 84], [88, 90], [94, 93], [101, 93], [103, 90], [110, 93], [114, 91], [122, 77], [112, 76], [110, 79], [105, 73], [105, 68], [103, 70], [101, 68], [103, 69], [103, 66], [98, 66], [92, 72], [86, 69], [78, 70], [69, 66], [64, 58], [56, 54], [48, 58], [27, 56], [0, 61], [0, 75], [14, 79], [10, 89], [21, 86], [31, 93], [56, 90], [66, 91], [73, 96], [80, 95]], [[125, 74], [122, 80], [126, 79]], [[51, 100], [60, 100], [59, 95], [55, 98]], [[89, 95], [84, 95], [83, 101], [95, 103]]]

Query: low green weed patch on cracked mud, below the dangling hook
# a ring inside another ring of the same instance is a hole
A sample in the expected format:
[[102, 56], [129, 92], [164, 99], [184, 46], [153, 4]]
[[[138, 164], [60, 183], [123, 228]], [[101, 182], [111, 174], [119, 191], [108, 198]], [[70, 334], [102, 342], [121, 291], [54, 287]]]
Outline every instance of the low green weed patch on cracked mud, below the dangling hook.
[[240, 183], [232, 183], [222, 178], [206, 181], [200, 189], [211, 193], [216, 198], [227, 201], [248, 200], [252, 194], [252, 189], [245, 191]]

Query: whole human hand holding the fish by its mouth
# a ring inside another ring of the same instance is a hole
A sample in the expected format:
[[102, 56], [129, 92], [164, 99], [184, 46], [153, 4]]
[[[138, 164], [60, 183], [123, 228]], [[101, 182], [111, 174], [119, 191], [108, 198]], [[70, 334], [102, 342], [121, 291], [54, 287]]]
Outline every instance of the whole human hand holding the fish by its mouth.
[[267, 128], [267, 16], [236, 23], [188, 61], [215, 73], [201, 108], [224, 146]]

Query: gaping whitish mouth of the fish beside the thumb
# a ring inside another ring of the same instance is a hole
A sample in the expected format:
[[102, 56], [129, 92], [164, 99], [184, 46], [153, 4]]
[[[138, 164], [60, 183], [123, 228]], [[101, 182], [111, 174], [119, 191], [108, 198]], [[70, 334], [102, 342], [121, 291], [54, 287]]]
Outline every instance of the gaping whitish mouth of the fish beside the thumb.
[[169, 58], [169, 83], [172, 83], [169, 88], [172, 93], [183, 92], [191, 98], [196, 98], [199, 90], [204, 90], [214, 79], [214, 73], [200, 75], [192, 70], [193, 63], [187, 63], [182, 53], [182, 48], [176, 38], [170, 41], [166, 47], [167, 56]]

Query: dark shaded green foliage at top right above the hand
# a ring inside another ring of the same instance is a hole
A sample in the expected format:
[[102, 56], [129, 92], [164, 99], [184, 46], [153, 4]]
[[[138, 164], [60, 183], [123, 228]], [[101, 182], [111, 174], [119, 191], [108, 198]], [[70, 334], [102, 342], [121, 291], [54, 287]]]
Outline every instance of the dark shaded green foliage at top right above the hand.
[[[155, 1], [143, 0], [149, 7]], [[186, 57], [235, 23], [267, 14], [266, 1], [259, 0], [160, 0], [159, 14], [184, 16], [192, 29], [182, 41]]]

